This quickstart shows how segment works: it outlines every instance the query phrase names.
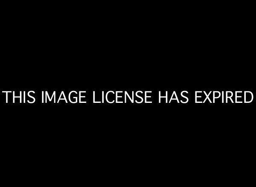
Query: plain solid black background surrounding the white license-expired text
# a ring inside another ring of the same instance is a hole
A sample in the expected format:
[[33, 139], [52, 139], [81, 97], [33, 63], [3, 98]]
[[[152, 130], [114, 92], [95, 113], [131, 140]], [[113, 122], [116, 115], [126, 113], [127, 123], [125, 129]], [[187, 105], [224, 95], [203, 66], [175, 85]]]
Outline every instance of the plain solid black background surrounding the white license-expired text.
[[[196, 105], [193, 96], [255, 94], [247, 7], [42, 7], [3, 13], [1, 91], [152, 90], [154, 104], [2, 102], [5, 176], [131, 184], [250, 178], [255, 101]], [[187, 105], [157, 104], [157, 91], [183, 90]]]

